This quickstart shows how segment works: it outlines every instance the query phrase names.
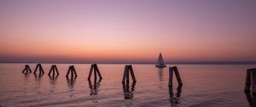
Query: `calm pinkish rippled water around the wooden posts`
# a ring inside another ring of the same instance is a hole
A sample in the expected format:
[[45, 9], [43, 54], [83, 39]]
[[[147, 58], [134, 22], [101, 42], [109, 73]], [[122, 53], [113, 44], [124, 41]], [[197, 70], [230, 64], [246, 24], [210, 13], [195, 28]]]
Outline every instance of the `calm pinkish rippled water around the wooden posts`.
[[[0, 64], [1, 106], [195, 106], [247, 107], [243, 92], [246, 69], [256, 65], [177, 65], [183, 80], [177, 91], [168, 87], [168, 69], [154, 65], [133, 65], [137, 83], [125, 91], [121, 83], [125, 65], [98, 65], [102, 81], [87, 81], [90, 65], [74, 65], [78, 77], [67, 80], [67, 64], [58, 64], [60, 76], [24, 75], [25, 64]], [[30, 64], [32, 70], [35, 64]], [[167, 65], [172, 66], [172, 65]], [[126, 89], [126, 88], [125, 88]], [[173, 96], [172, 96], [173, 91]], [[170, 94], [171, 93], [171, 94]], [[171, 97], [170, 97], [171, 96]]]

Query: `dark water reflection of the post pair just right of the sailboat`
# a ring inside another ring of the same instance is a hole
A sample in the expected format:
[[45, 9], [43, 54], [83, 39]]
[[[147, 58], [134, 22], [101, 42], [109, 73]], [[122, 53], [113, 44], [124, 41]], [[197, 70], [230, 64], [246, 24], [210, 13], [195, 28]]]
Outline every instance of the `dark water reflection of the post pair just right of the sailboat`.
[[170, 96], [170, 104], [171, 106], [176, 106], [177, 104], [180, 104], [180, 97], [181, 97], [181, 93], [182, 93], [182, 87], [181, 85], [179, 85], [177, 87], [177, 93], [173, 94], [173, 90], [172, 87], [169, 87], [169, 96]]

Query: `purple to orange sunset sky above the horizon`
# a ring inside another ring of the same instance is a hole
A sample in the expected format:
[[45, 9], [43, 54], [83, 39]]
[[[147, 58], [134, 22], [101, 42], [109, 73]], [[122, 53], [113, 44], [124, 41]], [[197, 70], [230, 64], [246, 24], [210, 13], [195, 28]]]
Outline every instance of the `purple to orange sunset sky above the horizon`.
[[0, 62], [256, 61], [253, 0], [1, 0]]

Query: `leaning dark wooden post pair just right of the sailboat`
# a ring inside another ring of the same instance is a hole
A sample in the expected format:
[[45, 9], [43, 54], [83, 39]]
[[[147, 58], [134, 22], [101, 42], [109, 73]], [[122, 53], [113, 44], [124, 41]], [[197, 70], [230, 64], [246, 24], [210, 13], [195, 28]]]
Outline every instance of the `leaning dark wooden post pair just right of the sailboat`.
[[175, 76], [177, 78], [178, 86], [183, 86], [183, 82], [182, 82], [181, 77], [178, 73], [177, 66], [173, 66], [173, 67], [169, 67], [169, 87], [172, 87], [173, 71], [174, 71]]

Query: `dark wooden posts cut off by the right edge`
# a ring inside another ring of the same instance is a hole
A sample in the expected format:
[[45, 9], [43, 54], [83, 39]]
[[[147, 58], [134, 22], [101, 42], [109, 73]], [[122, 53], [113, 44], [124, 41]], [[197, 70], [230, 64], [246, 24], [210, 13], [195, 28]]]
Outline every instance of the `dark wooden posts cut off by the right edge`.
[[250, 92], [252, 86], [252, 93], [256, 94], [256, 68], [247, 69], [247, 77], [245, 83], [245, 92]]

